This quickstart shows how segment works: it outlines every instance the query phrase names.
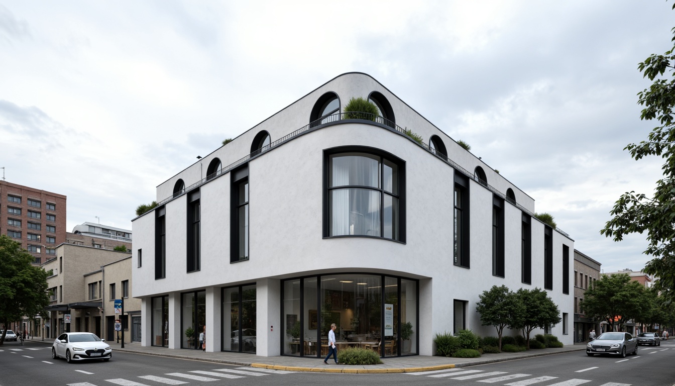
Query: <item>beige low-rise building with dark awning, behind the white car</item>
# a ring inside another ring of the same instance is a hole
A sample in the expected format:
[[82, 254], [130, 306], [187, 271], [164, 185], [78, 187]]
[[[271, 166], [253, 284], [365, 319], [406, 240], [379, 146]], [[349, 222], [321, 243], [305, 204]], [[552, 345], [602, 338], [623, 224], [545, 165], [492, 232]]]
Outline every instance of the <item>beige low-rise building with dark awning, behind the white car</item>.
[[[129, 253], [68, 243], [56, 249], [57, 258], [42, 264], [42, 268], [52, 272], [47, 278], [51, 302], [46, 308], [49, 318], [38, 322], [41, 327], [36, 327], [35, 335], [56, 338], [63, 332], [88, 331], [103, 337], [102, 316], [114, 312], [104, 309], [108, 308], [108, 302], [103, 301], [107, 299], [105, 288], [124, 280], [125, 272], [126, 280], [130, 280]], [[105, 266], [115, 268], [113, 272], [108, 270], [107, 277]], [[134, 309], [138, 306], [129, 308]], [[66, 322], [66, 315], [70, 315], [70, 323]]]

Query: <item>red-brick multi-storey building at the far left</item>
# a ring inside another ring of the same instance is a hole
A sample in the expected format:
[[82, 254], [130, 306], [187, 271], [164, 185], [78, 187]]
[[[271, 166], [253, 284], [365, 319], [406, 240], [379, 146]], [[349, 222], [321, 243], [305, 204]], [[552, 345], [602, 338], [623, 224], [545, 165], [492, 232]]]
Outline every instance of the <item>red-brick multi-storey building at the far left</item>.
[[39, 265], [65, 241], [65, 195], [0, 181], [0, 233], [19, 241]]

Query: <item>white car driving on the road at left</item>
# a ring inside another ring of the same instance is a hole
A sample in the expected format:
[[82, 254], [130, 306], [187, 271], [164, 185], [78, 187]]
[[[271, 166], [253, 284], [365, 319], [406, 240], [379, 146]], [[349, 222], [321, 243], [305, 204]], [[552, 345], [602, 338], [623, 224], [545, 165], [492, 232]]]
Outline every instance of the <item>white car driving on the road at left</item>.
[[51, 345], [51, 358], [65, 358], [68, 363], [90, 359], [108, 362], [112, 357], [113, 349], [105, 339], [92, 333], [63, 333]]

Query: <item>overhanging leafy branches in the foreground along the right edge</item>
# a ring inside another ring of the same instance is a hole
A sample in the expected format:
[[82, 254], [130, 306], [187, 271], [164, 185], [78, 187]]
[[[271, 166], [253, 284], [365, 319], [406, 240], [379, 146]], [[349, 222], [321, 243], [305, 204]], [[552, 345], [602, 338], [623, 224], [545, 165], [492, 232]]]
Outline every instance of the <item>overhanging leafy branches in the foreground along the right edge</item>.
[[663, 55], [650, 55], [638, 65], [643, 77], [653, 81], [649, 89], [637, 94], [638, 103], [644, 106], [640, 119], [655, 120], [657, 126], [646, 141], [624, 148], [634, 160], [648, 155], [663, 158], [663, 178], [657, 180], [651, 197], [635, 191], [619, 197], [610, 211], [613, 218], [600, 231], [614, 241], [630, 233], [647, 233], [648, 245], [643, 253], [653, 259], [643, 272], [658, 278], [655, 287], [668, 303], [675, 301], [675, 28], [671, 32], [673, 47]]

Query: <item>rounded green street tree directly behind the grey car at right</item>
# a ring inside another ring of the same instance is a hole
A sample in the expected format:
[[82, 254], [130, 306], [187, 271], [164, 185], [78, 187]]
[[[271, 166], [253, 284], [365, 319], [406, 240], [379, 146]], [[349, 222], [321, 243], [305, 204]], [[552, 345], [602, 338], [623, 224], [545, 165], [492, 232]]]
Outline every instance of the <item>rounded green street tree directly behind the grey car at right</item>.
[[581, 310], [591, 319], [605, 320], [612, 331], [645, 312], [645, 287], [630, 280], [628, 274], [603, 275], [586, 290]]

